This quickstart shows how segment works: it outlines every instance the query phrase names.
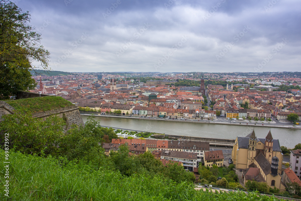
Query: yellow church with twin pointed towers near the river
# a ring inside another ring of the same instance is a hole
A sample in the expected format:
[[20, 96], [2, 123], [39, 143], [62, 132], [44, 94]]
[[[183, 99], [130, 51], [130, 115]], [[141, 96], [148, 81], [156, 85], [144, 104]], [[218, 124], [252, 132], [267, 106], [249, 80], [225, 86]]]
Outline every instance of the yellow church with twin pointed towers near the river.
[[271, 130], [265, 139], [257, 138], [254, 130], [246, 137], [236, 137], [232, 159], [237, 169], [243, 169], [244, 184], [255, 180], [285, 190], [280, 176], [283, 161], [280, 143], [273, 139]]

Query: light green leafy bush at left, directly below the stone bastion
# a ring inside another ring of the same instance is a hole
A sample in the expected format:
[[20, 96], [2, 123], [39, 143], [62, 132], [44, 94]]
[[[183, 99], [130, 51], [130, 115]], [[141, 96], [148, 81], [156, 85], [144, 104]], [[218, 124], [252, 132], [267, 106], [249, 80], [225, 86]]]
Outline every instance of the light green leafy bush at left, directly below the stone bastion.
[[9, 133], [9, 146], [26, 154], [57, 155], [66, 123], [62, 118], [49, 116], [45, 120], [34, 118], [23, 111], [3, 115], [0, 124], [0, 147], [4, 149], [4, 133]]

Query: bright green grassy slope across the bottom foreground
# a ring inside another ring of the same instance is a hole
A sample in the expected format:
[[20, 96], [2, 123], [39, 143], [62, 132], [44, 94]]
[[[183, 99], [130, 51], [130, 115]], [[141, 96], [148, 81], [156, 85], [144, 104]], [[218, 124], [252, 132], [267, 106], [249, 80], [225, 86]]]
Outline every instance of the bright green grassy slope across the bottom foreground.
[[[0, 155], [4, 155], [0, 149]], [[9, 197], [4, 195], [4, 157], [0, 157], [1, 200], [278, 200], [256, 193], [212, 193], [194, 190], [193, 184], [162, 177], [122, 176], [110, 168], [85, 162], [9, 153]]]

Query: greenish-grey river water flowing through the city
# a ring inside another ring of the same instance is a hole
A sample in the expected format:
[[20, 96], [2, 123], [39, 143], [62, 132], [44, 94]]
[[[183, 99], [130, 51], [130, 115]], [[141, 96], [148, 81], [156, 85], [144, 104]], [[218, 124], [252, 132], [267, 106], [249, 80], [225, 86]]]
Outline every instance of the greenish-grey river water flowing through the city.
[[[82, 115], [84, 123], [88, 116]], [[187, 121], [156, 121], [149, 119], [133, 118], [114, 118], [114, 117], [95, 117], [102, 126], [117, 127], [130, 130], [141, 130], [156, 133], [165, 133], [170, 135], [185, 135], [190, 137], [208, 137], [235, 139], [237, 136], [245, 137], [255, 129], [256, 137], [265, 138], [268, 131], [274, 139], [279, 139], [280, 146], [293, 148], [296, 144], [301, 143], [301, 129], [293, 128], [269, 128], [253, 127], [240, 125], [223, 125], [208, 123], [193, 123]]]

